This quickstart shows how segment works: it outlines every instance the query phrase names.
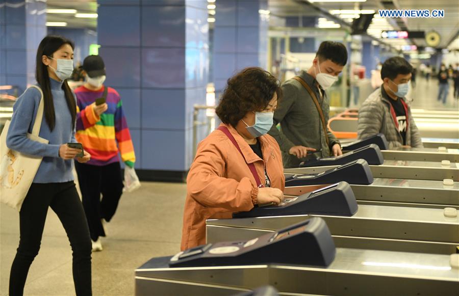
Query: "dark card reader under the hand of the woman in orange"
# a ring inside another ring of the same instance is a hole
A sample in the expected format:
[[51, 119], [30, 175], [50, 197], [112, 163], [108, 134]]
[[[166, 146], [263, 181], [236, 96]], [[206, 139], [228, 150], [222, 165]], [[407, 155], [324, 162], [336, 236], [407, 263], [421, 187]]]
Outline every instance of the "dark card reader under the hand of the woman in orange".
[[233, 218], [324, 214], [352, 216], [358, 210], [354, 193], [347, 182], [339, 182], [298, 197], [286, 198], [279, 205], [258, 206], [237, 212]]

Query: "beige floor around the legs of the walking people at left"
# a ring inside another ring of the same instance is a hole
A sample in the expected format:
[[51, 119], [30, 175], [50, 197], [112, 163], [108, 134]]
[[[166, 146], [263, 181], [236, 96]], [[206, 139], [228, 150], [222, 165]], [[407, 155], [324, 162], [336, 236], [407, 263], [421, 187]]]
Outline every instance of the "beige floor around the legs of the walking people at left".
[[[133, 295], [136, 267], [151, 257], [179, 251], [185, 195], [185, 184], [144, 182], [138, 191], [122, 196], [117, 213], [107, 224], [108, 236], [102, 238], [104, 251], [92, 253], [94, 295]], [[0, 215], [0, 294], [7, 295], [19, 242], [19, 216], [4, 204]], [[74, 295], [71, 260], [65, 231], [49, 210], [24, 294]]]

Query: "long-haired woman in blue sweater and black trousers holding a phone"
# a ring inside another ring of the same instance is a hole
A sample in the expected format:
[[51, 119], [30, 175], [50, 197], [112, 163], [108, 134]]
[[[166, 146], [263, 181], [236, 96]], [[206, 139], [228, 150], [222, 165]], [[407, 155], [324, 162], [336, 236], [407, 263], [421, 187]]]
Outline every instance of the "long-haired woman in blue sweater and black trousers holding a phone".
[[91, 295], [91, 238], [82, 203], [73, 182], [73, 158], [85, 163], [90, 155], [69, 148], [75, 140], [76, 101], [66, 79], [73, 70], [70, 40], [46, 36], [38, 46], [36, 72], [43, 91], [44, 120], [39, 136], [48, 144], [27, 138], [37, 115], [41, 94], [26, 90], [14, 104], [7, 146], [24, 154], [43, 156], [42, 163], [19, 212], [20, 240], [11, 266], [10, 295], [22, 295], [25, 279], [38, 254], [48, 207], [56, 212], [67, 232], [73, 255], [73, 282], [77, 295]]

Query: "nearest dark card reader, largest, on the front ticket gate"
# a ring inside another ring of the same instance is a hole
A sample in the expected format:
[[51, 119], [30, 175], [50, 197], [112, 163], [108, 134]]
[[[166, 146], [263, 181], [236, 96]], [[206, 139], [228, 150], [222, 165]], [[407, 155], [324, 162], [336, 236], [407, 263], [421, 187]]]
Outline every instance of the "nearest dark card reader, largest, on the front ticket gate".
[[248, 241], [207, 244], [180, 252], [170, 267], [249, 264], [301, 264], [328, 266], [336, 248], [327, 225], [312, 218]]

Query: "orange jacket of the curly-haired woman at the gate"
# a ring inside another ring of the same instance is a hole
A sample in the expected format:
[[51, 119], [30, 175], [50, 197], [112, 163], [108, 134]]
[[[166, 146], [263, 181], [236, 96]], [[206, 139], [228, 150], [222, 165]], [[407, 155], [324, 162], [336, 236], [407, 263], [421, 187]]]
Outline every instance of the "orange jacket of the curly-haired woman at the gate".
[[[241, 153], [221, 130], [213, 131], [199, 143], [187, 178], [187, 198], [183, 217], [182, 250], [206, 243], [206, 220], [232, 218], [233, 212], [248, 211], [257, 201], [258, 187], [248, 163], [253, 163], [265, 184], [264, 166], [271, 187], [284, 191], [285, 177], [281, 149], [266, 134], [259, 137], [261, 159], [231, 125]], [[245, 159], [244, 159], [245, 158]]]

